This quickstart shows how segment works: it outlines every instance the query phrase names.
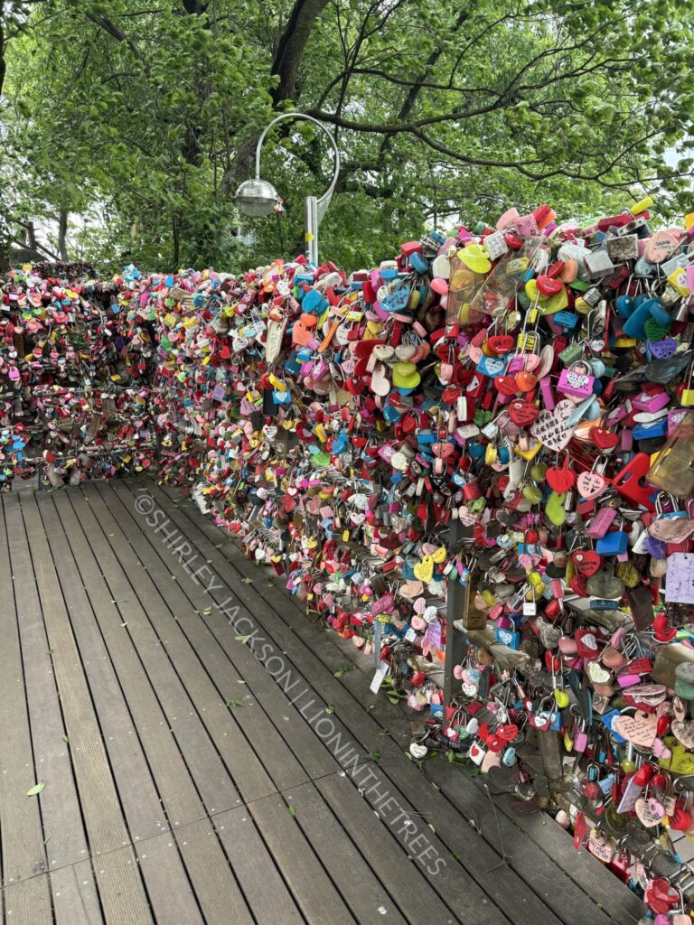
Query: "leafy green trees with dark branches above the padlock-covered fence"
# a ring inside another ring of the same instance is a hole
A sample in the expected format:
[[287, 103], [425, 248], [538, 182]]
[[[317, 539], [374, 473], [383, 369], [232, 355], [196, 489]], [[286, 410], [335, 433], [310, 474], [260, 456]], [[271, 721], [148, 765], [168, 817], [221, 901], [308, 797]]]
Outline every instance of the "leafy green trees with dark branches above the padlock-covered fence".
[[[665, 216], [687, 204], [694, 16], [674, 0], [23, 7], [4, 156], [35, 209], [101, 214], [70, 232], [91, 256], [241, 268], [298, 249], [304, 195], [330, 175], [310, 125], [281, 123], [263, 153], [285, 199], [279, 228], [241, 219], [232, 199], [263, 127], [294, 108], [340, 144], [321, 251], [348, 267], [511, 204], [582, 218], [644, 191]], [[677, 166], [668, 149], [684, 152]]]

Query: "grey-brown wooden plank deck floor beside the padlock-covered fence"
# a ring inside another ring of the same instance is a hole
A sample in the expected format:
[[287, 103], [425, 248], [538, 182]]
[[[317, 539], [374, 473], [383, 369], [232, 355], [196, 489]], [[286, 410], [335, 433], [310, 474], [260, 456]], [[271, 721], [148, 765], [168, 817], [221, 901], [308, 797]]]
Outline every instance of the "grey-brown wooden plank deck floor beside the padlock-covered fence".
[[175, 492], [133, 479], [2, 509], [3, 922], [638, 919], [551, 820], [409, 760], [373, 668], [338, 671], [353, 648]]

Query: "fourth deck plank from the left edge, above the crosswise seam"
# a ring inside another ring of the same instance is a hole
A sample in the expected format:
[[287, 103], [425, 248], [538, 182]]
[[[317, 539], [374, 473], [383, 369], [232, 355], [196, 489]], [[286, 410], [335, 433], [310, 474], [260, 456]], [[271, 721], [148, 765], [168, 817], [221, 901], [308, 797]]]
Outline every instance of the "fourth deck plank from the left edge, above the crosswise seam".
[[[37, 495], [36, 500], [103, 731], [118, 796], [125, 810], [130, 839], [137, 843], [166, 832], [166, 814], [53, 499], [45, 494]], [[136, 787], [132, 786], [132, 781], [138, 782]]]

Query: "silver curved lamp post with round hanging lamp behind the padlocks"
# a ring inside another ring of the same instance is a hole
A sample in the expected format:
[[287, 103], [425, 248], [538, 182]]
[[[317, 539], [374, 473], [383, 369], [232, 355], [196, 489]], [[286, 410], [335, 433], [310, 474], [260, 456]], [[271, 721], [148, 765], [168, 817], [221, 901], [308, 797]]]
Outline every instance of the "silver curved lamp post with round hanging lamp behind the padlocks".
[[307, 122], [313, 122], [319, 129], [328, 136], [328, 141], [335, 153], [335, 168], [332, 175], [332, 181], [328, 190], [317, 199], [316, 196], [306, 196], [304, 199], [304, 239], [306, 241], [306, 252], [311, 263], [318, 263], [318, 226], [321, 219], [328, 211], [328, 205], [335, 189], [335, 184], [340, 175], [340, 152], [328, 129], [312, 116], [304, 116], [304, 113], [283, 113], [281, 116], [274, 118], [267, 126], [258, 140], [255, 148], [255, 179], [245, 180], [236, 191], [236, 204], [239, 210], [246, 216], [269, 216], [279, 202], [278, 191], [266, 179], [260, 178], [260, 151], [263, 142], [266, 139], [267, 132], [282, 119], [305, 119]]

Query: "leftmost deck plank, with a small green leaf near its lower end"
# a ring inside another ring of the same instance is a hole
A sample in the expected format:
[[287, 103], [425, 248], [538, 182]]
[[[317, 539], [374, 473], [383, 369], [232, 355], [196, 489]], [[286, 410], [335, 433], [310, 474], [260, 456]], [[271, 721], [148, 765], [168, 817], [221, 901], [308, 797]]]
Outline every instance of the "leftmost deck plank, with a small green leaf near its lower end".
[[[0, 524], [0, 587], [6, 589], [0, 607], [0, 833], [7, 884], [46, 870], [46, 857], [39, 800], [26, 796], [37, 782], [5, 524]], [[15, 895], [22, 908], [35, 902], [36, 921], [50, 921], [47, 888], [35, 893], [27, 888]]]

